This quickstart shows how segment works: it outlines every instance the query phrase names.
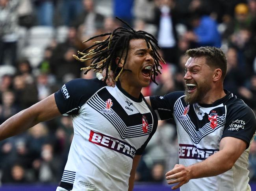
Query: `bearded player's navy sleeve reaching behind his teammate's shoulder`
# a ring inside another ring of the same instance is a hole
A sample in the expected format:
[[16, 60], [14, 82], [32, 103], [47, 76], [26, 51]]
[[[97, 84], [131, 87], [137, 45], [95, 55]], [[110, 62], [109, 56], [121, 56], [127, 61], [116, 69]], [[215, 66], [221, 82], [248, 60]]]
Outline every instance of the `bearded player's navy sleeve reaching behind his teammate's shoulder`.
[[150, 96], [151, 107], [156, 111], [158, 120], [173, 118], [174, 104], [183, 95], [183, 91], [175, 91], [164, 96]]

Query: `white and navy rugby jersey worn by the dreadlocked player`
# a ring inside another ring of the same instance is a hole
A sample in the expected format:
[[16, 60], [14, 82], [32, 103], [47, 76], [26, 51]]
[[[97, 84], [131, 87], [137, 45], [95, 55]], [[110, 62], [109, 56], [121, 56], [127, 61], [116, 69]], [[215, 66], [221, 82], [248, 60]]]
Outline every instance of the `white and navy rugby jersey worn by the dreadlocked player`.
[[75, 79], [55, 93], [58, 109], [72, 115], [74, 138], [57, 191], [125, 191], [133, 157], [141, 155], [158, 119], [142, 94], [118, 82]]

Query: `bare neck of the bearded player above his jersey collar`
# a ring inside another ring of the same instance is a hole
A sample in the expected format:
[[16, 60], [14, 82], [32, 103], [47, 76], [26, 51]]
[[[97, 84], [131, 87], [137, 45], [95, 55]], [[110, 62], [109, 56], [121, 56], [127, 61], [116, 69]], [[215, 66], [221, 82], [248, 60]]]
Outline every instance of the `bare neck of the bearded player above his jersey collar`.
[[200, 104], [213, 104], [215, 101], [226, 96], [224, 92], [223, 85], [220, 85], [220, 88], [213, 88], [202, 98]]

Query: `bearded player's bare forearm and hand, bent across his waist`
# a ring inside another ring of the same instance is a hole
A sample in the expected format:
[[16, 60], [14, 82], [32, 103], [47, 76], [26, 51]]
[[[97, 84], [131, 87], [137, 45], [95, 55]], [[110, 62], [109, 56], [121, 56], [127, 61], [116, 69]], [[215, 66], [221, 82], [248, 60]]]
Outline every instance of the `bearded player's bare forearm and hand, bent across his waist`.
[[220, 150], [208, 157], [203, 162], [184, 166], [176, 164], [174, 168], [166, 173], [168, 184], [175, 184], [172, 189], [176, 189], [189, 182], [190, 179], [217, 176], [228, 171], [234, 166], [236, 160], [246, 149], [246, 142], [234, 138], [224, 137], [220, 142]]

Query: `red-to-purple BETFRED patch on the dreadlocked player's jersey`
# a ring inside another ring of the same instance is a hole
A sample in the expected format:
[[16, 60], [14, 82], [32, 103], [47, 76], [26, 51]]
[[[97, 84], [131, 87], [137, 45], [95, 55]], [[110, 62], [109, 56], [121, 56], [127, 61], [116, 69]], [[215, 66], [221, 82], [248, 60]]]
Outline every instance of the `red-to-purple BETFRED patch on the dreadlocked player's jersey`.
[[89, 142], [122, 153], [130, 158], [134, 158], [136, 151], [134, 147], [122, 140], [104, 135], [102, 133], [96, 133], [92, 130], [90, 132]]

